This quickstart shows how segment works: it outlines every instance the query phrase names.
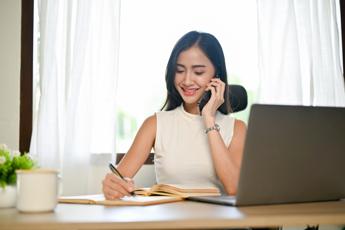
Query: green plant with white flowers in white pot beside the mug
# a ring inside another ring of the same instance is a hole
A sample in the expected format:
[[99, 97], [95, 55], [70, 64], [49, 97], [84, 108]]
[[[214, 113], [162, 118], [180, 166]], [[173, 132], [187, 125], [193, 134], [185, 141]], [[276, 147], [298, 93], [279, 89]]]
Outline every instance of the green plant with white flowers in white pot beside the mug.
[[0, 208], [14, 207], [17, 195], [17, 169], [37, 169], [33, 155], [18, 150], [11, 151], [6, 144], [0, 144]]

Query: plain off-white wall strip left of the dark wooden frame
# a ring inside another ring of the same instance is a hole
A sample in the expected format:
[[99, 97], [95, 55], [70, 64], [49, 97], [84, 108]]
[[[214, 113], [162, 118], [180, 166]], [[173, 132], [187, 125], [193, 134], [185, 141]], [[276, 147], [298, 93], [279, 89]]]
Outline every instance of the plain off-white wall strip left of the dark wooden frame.
[[0, 0], [0, 143], [19, 149], [21, 0]]

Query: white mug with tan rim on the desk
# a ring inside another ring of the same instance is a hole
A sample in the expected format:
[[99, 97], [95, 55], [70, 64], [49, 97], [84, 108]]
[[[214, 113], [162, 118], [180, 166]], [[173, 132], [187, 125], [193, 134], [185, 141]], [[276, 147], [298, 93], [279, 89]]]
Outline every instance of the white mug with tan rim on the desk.
[[17, 170], [17, 209], [21, 212], [52, 211], [62, 193], [57, 170]]

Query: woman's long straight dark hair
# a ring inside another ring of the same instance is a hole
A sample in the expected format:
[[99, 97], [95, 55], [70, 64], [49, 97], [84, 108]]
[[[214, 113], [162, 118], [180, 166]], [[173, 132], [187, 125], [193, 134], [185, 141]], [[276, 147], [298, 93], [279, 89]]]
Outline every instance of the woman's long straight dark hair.
[[165, 83], [167, 85], [167, 98], [163, 107], [165, 111], [172, 110], [181, 105], [183, 99], [177, 91], [174, 80], [176, 73], [176, 63], [180, 52], [188, 50], [191, 47], [198, 47], [204, 52], [205, 56], [211, 61], [215, 68], [215, 73], [218, 74], [220, 80], [225, 83], [224, 90], [224, 103], [219, 106], [217, 110], [223, 114], [229, 114], [231, 106], [229, 102], [229, 89], [228, 89], [228, 75], [225, 66], [225, 58], [223, 49], [221, 48], [217, 38], [209, 33], [190, 31], [182, 36], [175, 44], [171, 51], [168, 61], [167, 69], [165, 72]]

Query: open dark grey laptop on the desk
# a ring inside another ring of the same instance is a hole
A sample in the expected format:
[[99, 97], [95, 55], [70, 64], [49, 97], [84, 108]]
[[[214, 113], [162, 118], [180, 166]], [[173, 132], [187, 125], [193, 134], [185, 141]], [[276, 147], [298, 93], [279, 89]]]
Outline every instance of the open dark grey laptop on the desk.
[[345, 108], [252, 105], [237, 196], [190, 197], [225, 205], [345, 198]]

